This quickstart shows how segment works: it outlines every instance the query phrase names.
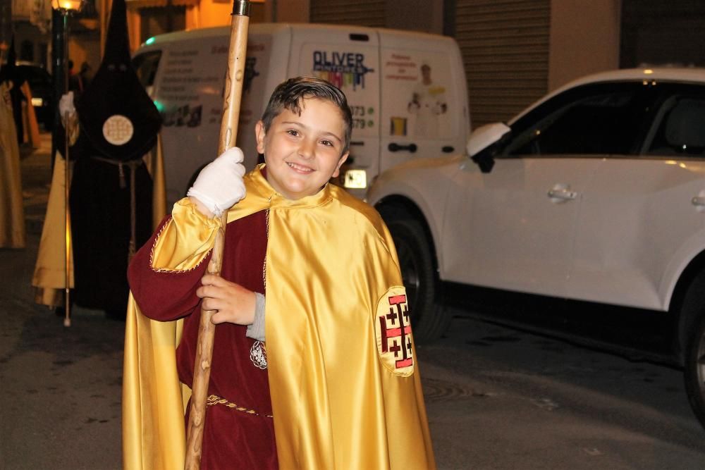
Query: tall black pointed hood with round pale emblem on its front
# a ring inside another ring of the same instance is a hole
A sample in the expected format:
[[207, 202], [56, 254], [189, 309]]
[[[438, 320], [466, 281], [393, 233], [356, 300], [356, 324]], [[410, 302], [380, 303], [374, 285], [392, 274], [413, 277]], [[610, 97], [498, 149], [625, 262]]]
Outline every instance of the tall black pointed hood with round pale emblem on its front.
[[161, 117], [130, 60], [125, 0], [113, 0], [103, 61], [76, 109], [83, 132], [106, 159], [140, 159], [157, 142]]

